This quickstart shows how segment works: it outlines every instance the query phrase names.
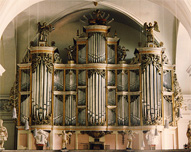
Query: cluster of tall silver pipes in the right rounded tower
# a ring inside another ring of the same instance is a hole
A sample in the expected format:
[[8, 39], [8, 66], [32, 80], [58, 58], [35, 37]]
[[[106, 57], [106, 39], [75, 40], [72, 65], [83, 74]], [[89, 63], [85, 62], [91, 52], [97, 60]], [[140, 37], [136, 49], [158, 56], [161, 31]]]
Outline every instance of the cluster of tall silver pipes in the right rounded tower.
[[161, 115], [161, 79], [157, 68], [151, 64], [147, 65], [142, 73], [142, 101], [143, 118], [155, 121]]

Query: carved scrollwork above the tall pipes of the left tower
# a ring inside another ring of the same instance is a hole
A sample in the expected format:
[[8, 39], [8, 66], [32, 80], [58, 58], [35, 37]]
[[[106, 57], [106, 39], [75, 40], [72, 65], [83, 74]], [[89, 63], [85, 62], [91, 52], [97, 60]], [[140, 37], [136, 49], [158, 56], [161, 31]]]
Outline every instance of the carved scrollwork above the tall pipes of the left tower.
[[32, 54], [32, 72], [34, 73], [37, 66], [43, 62], [48, 68], [48, 72], [53, 72], [53, 55], [48, 53]]

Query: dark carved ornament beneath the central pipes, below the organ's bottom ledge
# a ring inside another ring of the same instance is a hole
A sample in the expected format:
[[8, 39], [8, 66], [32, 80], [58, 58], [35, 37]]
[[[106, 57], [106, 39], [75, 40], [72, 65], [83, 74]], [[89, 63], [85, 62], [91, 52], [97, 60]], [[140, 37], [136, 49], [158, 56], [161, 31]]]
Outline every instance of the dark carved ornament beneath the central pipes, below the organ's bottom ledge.
[[107, 134], [111, 134], [112, 131], [81, 131], [82, 134], [88, 134], [89, 136], [99, 139]]

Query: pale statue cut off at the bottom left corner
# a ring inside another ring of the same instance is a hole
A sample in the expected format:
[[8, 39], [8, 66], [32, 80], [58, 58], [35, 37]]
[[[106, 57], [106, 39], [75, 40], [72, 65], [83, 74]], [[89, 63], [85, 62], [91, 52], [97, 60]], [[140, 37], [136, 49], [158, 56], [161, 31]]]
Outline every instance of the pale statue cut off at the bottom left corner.
[[0, 150], [3, 150], [4, 142], [7, 141], [8, 132], [7, 128], [3, 126], [3, 120], [0, 119]]

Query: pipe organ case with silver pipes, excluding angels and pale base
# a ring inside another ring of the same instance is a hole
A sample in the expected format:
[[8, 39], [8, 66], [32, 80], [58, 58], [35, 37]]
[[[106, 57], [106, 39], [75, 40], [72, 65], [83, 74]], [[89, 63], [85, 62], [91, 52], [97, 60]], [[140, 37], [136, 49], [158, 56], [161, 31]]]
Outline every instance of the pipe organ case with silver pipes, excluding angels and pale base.
[[164, 48], [148, 41], [129, 62], [111, 27], [97, 20], [74, 38], [68, 64], [46, 41], [29, 48], [28, 62], [18, 64], [18, 128], [25, 118], [31, 130], [125, 131], [166, 119], [176, 126], [181, 96]]

